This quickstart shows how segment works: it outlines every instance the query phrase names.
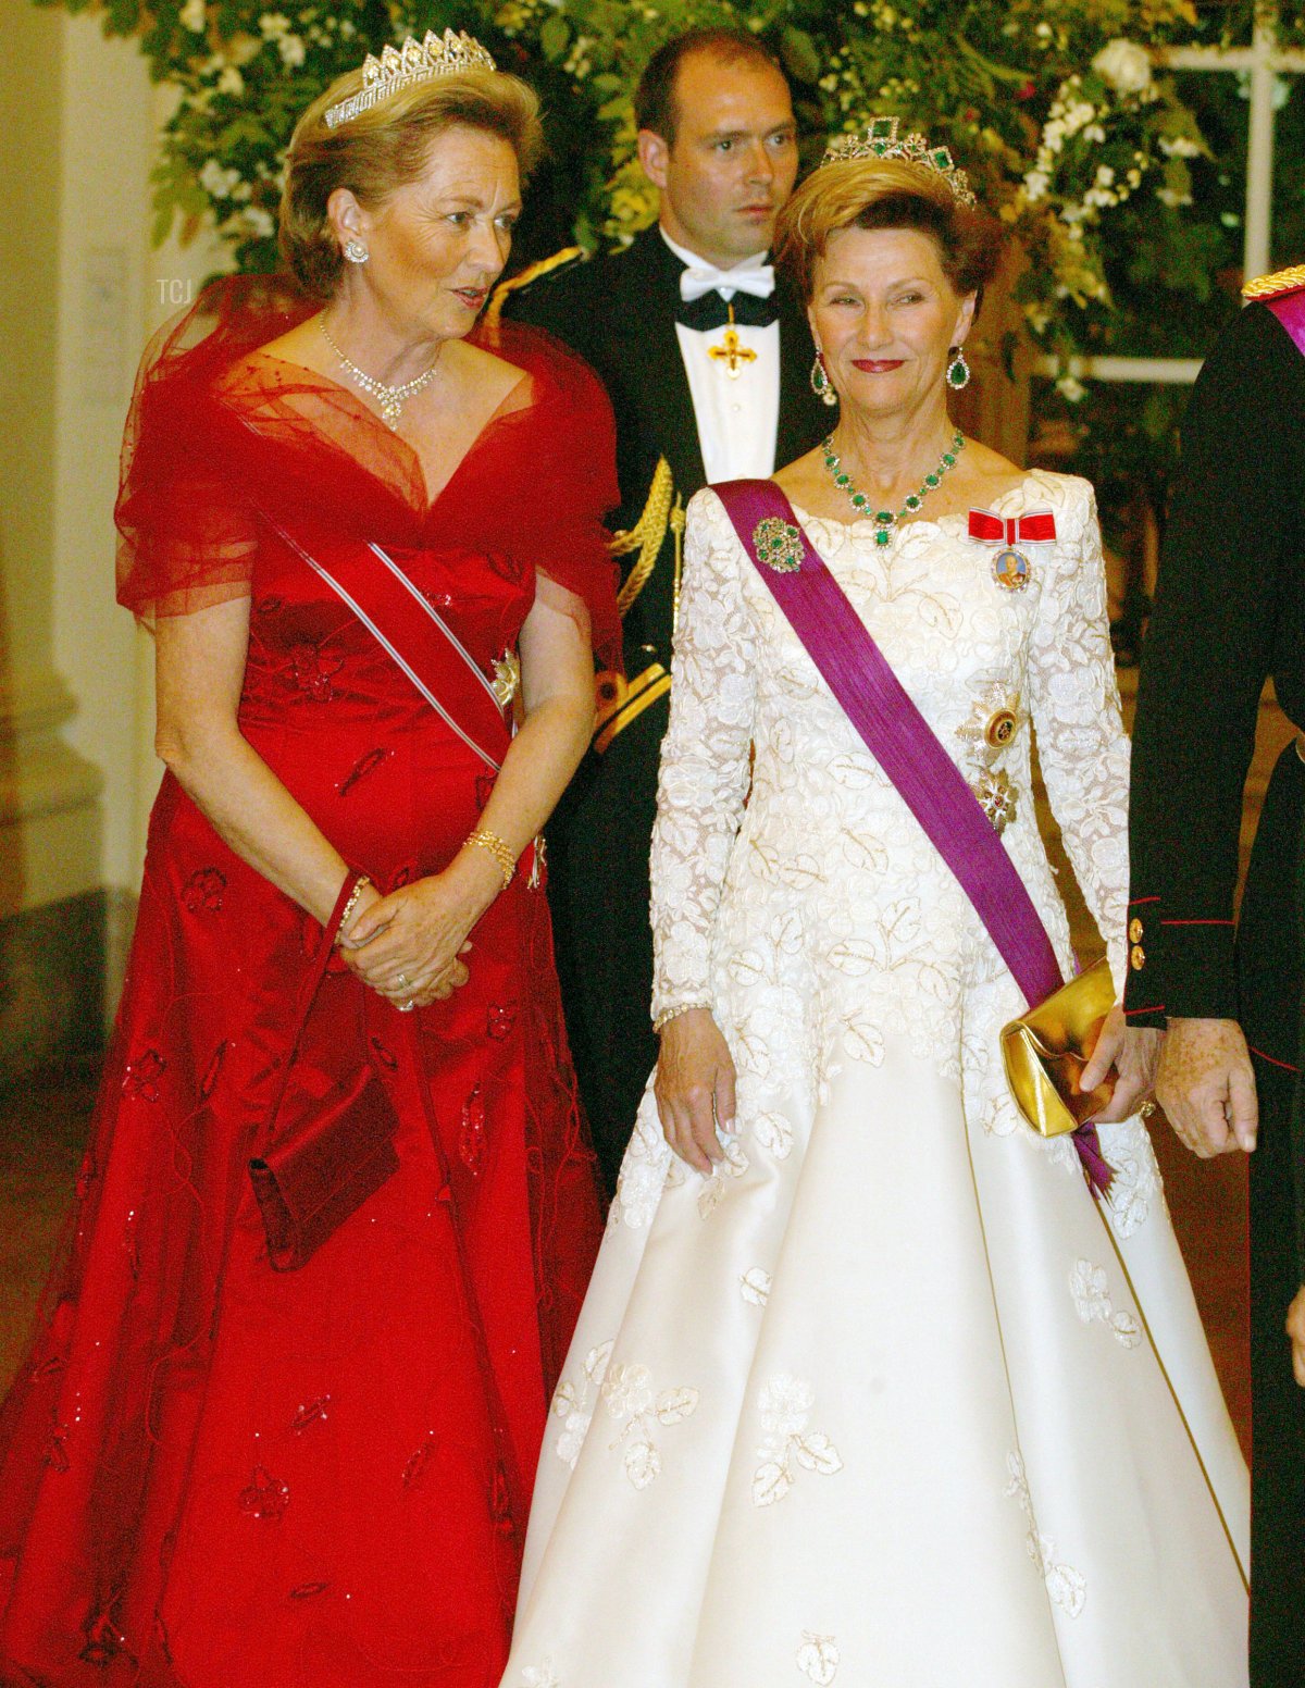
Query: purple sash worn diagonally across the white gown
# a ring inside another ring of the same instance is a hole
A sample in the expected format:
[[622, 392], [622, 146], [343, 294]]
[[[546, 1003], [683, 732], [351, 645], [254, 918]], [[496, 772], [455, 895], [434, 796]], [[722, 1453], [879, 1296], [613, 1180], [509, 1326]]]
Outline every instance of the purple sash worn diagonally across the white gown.
[[[793, 506], [773, 481], [724, 481], [712, 491], [866, 749], [956, 874], [1025, 1001], [1030, 1008], [1045, 1001], [1065, 981], [1025, 881], [966, 776], [807, 538]], [[772, 545], [778, 538], [787, 547], [787, 554], [780, 552], [780, 567], [758, 555], [761, 522], [778, 522], [788, 530], [772, 530]], [[1109, 1166], [1101, 1156], [1096, 1126], [1075, 1131], [1074, 1146], [1089, 1183], [1104, 1192]]]

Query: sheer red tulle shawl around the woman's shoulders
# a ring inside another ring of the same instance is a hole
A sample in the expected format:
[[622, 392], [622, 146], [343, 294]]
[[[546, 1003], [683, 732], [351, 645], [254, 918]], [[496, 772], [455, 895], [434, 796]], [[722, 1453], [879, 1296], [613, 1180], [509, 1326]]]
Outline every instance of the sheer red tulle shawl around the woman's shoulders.
[[615, 425], [589, 366], [539, 329], [476, 329], [527, 380], [430, 501], [412, 447], [355, 392], [262, 353], [316, 309], [280, 279], [228, 277], [147, 348], [115, 510], [118, 601], [152, 621], [246, 594], [263, 513], [336, 540], [506, 557], [582, 599], [618, 667]]

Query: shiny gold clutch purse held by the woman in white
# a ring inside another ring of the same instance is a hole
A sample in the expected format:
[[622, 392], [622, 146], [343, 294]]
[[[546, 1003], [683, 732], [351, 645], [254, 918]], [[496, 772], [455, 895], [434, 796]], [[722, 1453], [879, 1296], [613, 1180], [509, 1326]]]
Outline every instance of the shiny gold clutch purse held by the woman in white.
[[1045, 1003], [1001, 1030], [1011, 1099], [1043, 1138], [1077, 1131], [1111, 1099], [1114, 1079], [1080, 1090], [1079, 1079], [1114, 1006], [1114, 979], [1102, 957]]

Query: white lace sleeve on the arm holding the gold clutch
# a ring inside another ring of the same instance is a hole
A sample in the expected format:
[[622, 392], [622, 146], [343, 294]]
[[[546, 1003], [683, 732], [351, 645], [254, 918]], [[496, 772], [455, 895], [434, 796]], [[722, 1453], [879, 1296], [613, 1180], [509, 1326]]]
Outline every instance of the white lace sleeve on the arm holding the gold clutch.
[[1123, 996], [1129, 746], [1114, 682], [1096, 498], [1086, 481], [1069, 486], [1030, 648], [1030, 704], [1052, 814]]

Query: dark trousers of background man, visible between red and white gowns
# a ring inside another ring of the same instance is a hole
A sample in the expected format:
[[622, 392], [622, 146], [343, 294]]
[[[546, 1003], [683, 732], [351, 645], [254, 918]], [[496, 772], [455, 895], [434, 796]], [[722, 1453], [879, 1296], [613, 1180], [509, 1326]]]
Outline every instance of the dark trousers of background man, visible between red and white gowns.
[[667, 699], [589, 753], [549, 825], [549, 903], [567, 1038], [608, 1195], [657, 1065], [648, 849]]

